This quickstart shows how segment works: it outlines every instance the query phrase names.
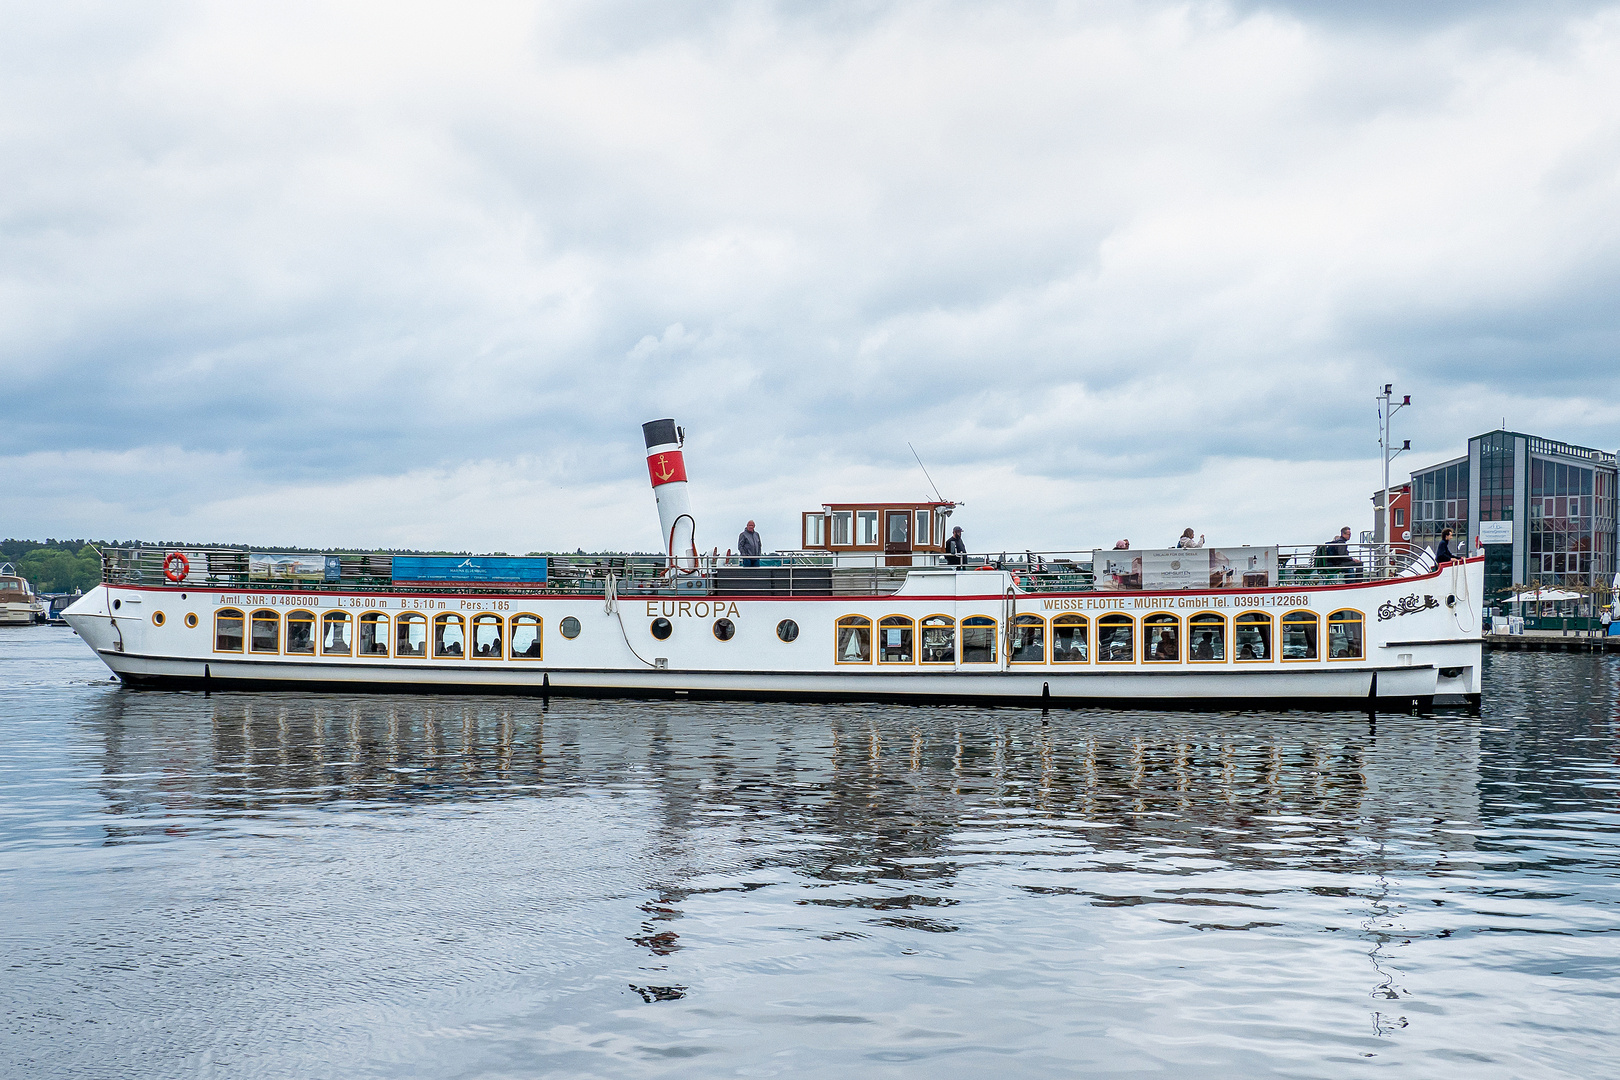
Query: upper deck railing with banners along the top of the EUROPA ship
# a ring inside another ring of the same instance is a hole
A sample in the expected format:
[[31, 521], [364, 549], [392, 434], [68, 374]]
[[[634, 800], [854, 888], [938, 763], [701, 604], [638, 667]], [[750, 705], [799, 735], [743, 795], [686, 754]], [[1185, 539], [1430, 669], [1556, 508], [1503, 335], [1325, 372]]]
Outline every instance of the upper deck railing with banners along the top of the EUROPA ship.
[[[1095, 549], [1058, 552], [983, 552], [969, 554], [959, 568], [1008, 570], [1027, 593], [1092, 593], [1121, 591], [1116, 585], [1098, 585], [1094, 575]], [[1191, 549], [1187, 554], [1207, 554]], [[1346, 555], [1325, 554], [1320, 544], [1280, 544], [1275, 567], [1265, 585], [1243, 575], [1226, 586], [1230, 591], [1257, 588], [1304, 588], [1346, 585], [1400, 576], [1432, 565], [1429, 552], [1411, 544], [1349, 544]], [[165, 576], [165, 560], [173, 552], [185, 563], [170, 562], [180, 580]], [[1110, 552], [1124, 555], [1126, 552]], [[554, 596], [886, 596], [897, 591], [912, 570], [949, 570], [944, 555], [906, 555], [909, 565], [894, 555], [774, 552], [758, 559], [703, 555], [695, 565], [671, 568], [663, 555], [546, 555], [544, 581], [421, 581], [397, 580], [394, 557], [387, 554], [301, 554], [305, 560], [324, 563], [319, 576], [271, 576], [262, 552], [245, 547], [109, 547], [102, 549], [102, 581], [105, 585], [162, 586], [173, 589], [267, 589], [267, 591], [343, 591], [343, 593], [423, 593], [436, 594], [554, 594]], [[277, 554], [293, 559], [300, 552]], [[261, 563], [259, 568], [254, 562]], [[1194, 555], [1196, 557], [1196, 555]], [[1351, 562], [1345, 562], [1345, 560]], [[181, 573], [183, 570], [183, 573]], [[1212, 588], [1205, 581], [1173, 588]], [[1163, 591], [1149, 583], [1126, 586], [1129, 591]]]

